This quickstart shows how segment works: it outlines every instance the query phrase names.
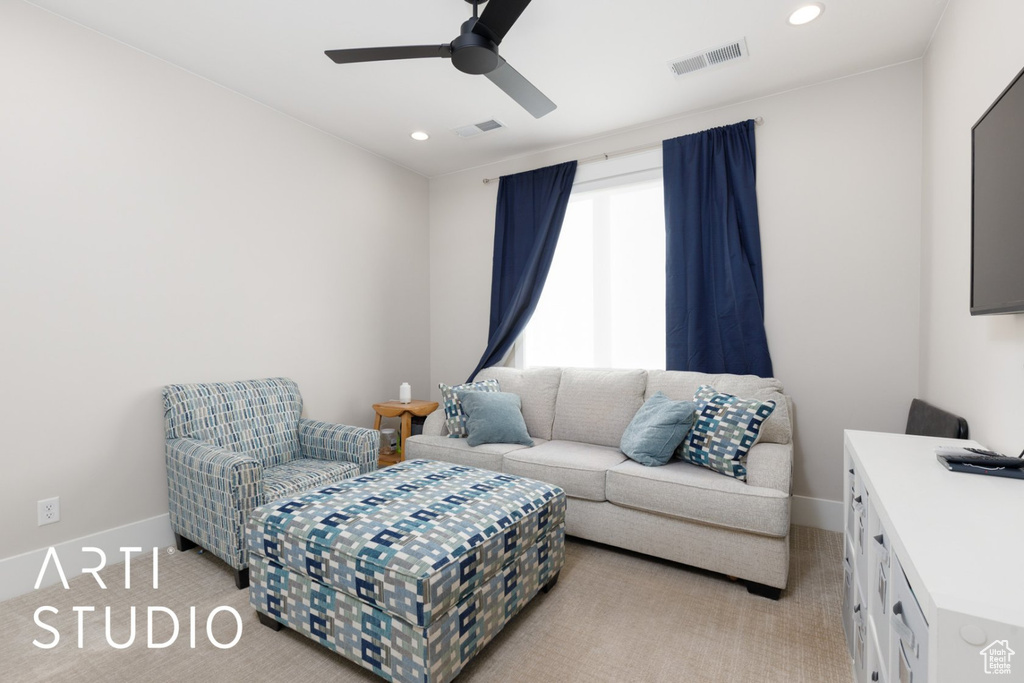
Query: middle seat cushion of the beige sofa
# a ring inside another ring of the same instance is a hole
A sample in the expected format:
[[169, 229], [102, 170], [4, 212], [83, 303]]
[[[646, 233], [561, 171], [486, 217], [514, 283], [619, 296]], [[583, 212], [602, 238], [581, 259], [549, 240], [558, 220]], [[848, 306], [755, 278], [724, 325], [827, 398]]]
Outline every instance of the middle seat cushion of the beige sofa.
[[617, 447], [547, 441], [506, 454], [503, 468], [509, 474], [553, 483], [569, 498], [604, 501], [604, 477], [608, 468], [625, 461], [626, 456]]

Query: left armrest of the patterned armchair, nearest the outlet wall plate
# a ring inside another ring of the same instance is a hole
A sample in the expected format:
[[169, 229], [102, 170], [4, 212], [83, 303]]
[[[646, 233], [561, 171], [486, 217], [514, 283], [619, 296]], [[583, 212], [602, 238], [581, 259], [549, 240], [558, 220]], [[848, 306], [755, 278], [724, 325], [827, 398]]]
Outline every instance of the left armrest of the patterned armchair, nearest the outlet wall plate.
[[167, 440], [171, 526], [236, 569], [245, 568], [246, 518], [262, 505], [263, 466], [193, 438]]

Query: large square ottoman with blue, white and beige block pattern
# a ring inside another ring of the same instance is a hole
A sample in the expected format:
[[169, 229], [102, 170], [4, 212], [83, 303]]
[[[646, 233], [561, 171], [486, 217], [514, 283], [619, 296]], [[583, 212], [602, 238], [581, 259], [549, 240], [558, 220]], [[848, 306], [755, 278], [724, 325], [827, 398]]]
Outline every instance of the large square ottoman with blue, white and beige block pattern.
[[565, 561], [565, 494], [412, 460], [274, 501], [246, 526], [249, 599], [393, 681], [451, 681]]

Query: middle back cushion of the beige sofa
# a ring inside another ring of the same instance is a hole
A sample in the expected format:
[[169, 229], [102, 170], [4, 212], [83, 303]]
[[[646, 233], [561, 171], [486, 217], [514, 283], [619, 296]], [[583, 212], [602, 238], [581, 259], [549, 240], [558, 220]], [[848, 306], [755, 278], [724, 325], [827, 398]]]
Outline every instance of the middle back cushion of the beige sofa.
[[617, 450], [623, 432], [643, 405], [646, 386], [643, 370], [562, 370], [551, 438]]

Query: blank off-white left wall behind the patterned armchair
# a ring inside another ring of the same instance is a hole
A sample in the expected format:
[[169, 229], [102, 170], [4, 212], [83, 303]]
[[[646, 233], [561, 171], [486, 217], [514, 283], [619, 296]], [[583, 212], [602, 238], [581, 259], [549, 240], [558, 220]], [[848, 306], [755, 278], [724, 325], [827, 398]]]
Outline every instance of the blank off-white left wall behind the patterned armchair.
[[167, 512], [164, 384], [425, 389], [426, 179], [22, 2], [0, 84], [0, 556]]

